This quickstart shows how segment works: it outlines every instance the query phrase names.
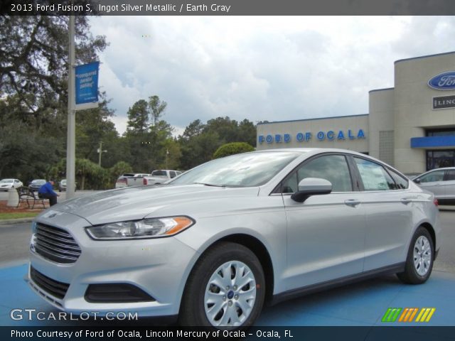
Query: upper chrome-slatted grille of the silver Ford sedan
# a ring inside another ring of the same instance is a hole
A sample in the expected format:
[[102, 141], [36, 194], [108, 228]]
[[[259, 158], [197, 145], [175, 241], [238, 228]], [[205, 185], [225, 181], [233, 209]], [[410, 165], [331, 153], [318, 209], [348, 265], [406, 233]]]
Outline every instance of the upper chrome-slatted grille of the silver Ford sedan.
[[60, 264], [72, 264], [80, 256], [80, 247], [64, 229], [37, 224], [33, 247], [37, 254]]

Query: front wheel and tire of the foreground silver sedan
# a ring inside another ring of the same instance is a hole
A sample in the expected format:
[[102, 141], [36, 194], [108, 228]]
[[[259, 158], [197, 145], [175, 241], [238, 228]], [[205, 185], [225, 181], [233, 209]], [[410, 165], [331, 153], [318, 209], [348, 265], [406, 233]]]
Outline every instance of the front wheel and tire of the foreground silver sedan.
[[[225, 271], [229, 271], [230, 278], [225, 279]], [[237, 287], [236, 283], [243, 286]], [[246, 328], [259, 316], [264, 297], [264, 271], [257, 256], [240, 244], [223, 242], [205, 251], [191, 271], [179, 323], [215, 329]]]

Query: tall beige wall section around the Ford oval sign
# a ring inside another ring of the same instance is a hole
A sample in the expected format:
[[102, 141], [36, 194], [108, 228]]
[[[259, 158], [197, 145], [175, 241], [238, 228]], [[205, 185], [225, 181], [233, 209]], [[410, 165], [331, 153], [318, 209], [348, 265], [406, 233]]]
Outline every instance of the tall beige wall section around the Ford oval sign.
[[412, 137], [425, 136], [425, 129], [455, 126], [455, 109], [432, 109], [432, 98], [454, 95], [454, 90], [434, 90], [432, 77], [455, 70], [455, 53], [395, 62], [394, 126], [395, 167], [403, 173], [426, 170], [424, 148], [411, 148]]

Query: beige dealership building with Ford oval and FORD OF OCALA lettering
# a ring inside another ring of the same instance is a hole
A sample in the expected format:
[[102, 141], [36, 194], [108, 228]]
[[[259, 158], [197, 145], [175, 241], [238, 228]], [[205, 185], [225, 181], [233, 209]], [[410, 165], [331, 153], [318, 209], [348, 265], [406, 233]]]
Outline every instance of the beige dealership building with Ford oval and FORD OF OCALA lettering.
[[402, 173], [455, 166], [455, 52], [397, 60], [395, 87], [371, 90], [369, 114], [257, 125], [257, 150], [344, 148]]

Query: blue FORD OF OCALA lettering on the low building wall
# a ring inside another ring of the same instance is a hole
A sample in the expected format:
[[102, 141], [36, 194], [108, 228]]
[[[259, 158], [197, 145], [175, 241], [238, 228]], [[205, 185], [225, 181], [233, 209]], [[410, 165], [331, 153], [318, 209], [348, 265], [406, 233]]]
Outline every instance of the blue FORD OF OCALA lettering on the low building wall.
[[289, 144], [292, 139], [295, 139], [297, 142], [308, 142], [311, 141], [311, 139], [316, 139], [317, 141], [365, 139], [365, 131], [363, 131], [363, 129], [358, 129], [357, 131], [348, 129], [348, 131], [318, 131], [315, 136], [313, 136], [311, 131], [306, 131], [305, 133], [297, 133], [296, 136], [291, 136], [291, 134], [267, 134], [265, 136], [257, 136], [257, 141], [259, 144], [263, 144], [264, 142], [267, 144]]

